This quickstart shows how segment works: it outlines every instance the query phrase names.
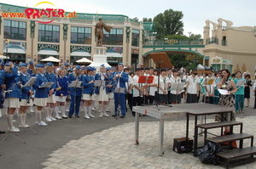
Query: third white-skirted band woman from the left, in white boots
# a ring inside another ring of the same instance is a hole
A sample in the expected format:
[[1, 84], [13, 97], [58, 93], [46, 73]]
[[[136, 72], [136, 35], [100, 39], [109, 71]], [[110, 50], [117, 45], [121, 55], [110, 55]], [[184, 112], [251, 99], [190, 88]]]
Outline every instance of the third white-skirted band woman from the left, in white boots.
[[47, 82], [47, 79], [44, 75], [44, 64], [36, 65], [36, 69], [38, 70], [37, 80], [34, 82], [35, 89], [35, 99], [34, 104], [37, 105], [36, 111], [36, 124], [39, 126], [47, 126], [47, 124], [41, 119], [41, 110], [43, 107], [47, 105], [47, 98], [49, 88], [41, 87], [44, 82]]

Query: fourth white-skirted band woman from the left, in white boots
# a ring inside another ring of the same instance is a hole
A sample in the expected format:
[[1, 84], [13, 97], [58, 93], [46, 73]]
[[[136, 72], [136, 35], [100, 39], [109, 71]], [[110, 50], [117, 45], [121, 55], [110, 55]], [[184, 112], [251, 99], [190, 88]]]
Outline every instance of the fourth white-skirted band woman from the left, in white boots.
[[58, 112], [56, 112], [56, 119], [51, 116], [56, 104], [56, 100], [55, 100], [56, 77], [54, 74], [54, 70], [55, 69], [54, 69], [53, 63], [49, 62], [46, 64], [45, 77], [48, 82], [54, 82], [54, 84], [51, 87], [49, 87], [47, 105], [45, 107], [45, 120], [48, 122], [56, 121], [56, 119], [61, 120], [61, 117], [58, 115]]

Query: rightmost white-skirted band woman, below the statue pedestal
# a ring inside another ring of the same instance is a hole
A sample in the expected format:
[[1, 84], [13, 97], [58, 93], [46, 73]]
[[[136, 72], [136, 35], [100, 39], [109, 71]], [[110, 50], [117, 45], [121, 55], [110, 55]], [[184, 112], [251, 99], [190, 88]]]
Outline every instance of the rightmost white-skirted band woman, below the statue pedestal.
[[108, 104], [108, 76], [105, 73], [105, 65], [102, 64], [100, 72], [96, 74], [95, 80], [104, 81], [104, 87], [96, 87], [96, 100], [99, 101], [100, 115], [99, 117], [109, 116], [106, 113], [107, 104]]

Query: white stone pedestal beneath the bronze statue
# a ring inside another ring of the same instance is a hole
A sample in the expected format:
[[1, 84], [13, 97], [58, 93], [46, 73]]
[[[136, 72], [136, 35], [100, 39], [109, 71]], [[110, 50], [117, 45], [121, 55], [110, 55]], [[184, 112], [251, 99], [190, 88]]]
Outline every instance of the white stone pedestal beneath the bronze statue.
[[95, 67], [96, 71], [99, 71], [102, 64], [104, 64], [105, 67], [111, 67], [107, 62], [107, 48], [95, 47], [93, 61], [89, 66]]

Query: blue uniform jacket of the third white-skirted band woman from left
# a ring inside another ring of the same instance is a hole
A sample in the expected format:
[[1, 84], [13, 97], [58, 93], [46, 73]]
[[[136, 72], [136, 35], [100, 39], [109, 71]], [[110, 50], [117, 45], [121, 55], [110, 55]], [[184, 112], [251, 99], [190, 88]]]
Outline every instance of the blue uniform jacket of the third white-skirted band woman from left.
[[37, 80], [34, 83], [34, 89], [36, 90], [35, 98], [48, 98], [49, 88], [41, 87], [47, 79], [40, 73], [37, 74]]

